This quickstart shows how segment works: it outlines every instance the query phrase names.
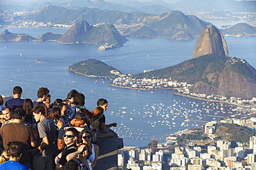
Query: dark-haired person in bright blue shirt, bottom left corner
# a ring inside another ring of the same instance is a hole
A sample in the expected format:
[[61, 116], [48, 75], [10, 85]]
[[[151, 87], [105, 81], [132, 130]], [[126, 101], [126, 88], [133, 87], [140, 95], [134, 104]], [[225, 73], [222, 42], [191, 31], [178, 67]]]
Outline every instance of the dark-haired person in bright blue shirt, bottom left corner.
[[28, 170], [28, 167], [19, 163], [24, 153], [24, 144], [17, 141], [10, 142], [8, 149], [10, 151], [10, 159], [0, 164], [0, 169]]

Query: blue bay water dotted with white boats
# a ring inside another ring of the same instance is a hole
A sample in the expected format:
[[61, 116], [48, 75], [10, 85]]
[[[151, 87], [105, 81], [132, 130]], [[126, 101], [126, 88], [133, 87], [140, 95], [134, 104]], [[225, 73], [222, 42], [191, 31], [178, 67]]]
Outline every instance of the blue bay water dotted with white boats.
[[[0, 32], [3, 30], [0, 29]], [[66, 31], [49, 28], [12, 28], [11, 30], [35, 37], [45, 32]], [[86, 59], [104, 61], [125, 74], [161, 69], [192, 59], [196, 43], [196, 37], [193, 41], [131, 37], [127, 39], [129, 41], [123, 47], [106, 51], [99, 51], [98, 45], [89, 44], [1, 42], [0, 94], [12, 95], [12, 88], [20, 85], [24, 89], [22, 97], [35, 100], [37, 89], [48, 87], [54, 100], [66, 98], [66, 94], [71, 89], [77, 89], [86, 96], [86, 107], [91, 110], [96, 107], [98, 98], [107, 98], [109, 100], [109, 109], [105, 113], [107, 123], [118, 123], [118, 127], [113, 130], [124, 139], [125, 146], [145, 146], [153, 137], [164, 142], [160, 134], [172, 134], [182, 129], [203, 125], [202, 122], [191, 121], [184, 122], [188, 127], [183, 127], [181, 123], [186, 119], [185, 116], [190, 120], [209, 121], [214, 117], [205, 115], [228, 116], [235, 107], [176, 96], [172, 94], [172, 90], [151, 92], [110, 87], [109, 79], [88, 78], [66, 71], [69, 65]], [[255, 37], [249, 39], [225, 37], [225, 39], [230, 56], [246, 59], [250, 65], [256, 67]], [[41, 60], [42, 63], [37, 63], [35, 60]]]

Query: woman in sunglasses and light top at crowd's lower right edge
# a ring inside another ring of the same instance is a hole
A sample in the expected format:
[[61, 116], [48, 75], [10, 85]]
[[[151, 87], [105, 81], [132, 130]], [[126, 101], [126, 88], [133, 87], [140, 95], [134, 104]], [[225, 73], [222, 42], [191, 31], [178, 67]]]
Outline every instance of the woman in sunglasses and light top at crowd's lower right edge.
[[80, 136], [81, 136], [81, 142], [88, 145], [89, 150], [91, 151], [89, 160], [92, 161], [92, 166], [94, 168], [99, 155], [99, 146], [92, 143], [92, 133], [90, 130], [87, 130], [87, 129], [82, 130]]

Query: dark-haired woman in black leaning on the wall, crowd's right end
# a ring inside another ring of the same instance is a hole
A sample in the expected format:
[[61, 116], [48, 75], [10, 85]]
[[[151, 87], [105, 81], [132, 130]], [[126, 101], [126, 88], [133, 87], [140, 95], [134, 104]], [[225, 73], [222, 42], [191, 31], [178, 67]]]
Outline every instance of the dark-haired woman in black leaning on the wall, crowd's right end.
[[[99, 107], [102, 107], [103, 111], [107, 111], [107, 106], [108, 106], [108, 102], [106, 99], [104, 98], [100, 98], [98, 101], [97, 101], [97, 105]], [[102, 130], [103, 134], [106, 134], [109, 132], [109, 127], [116, 127], [117, 123], [111, 123], [109, 125], [106, 125], [106, 117], [103, 116], [100, 118], [100, 126], [99, 126], [99, 129]]]

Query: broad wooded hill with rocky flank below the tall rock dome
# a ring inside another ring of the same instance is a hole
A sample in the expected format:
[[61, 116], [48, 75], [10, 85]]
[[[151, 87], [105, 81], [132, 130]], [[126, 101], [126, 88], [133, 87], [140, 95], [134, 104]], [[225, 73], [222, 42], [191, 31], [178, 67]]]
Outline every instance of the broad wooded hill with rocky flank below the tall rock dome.
[[208, 54], [161, 70], [135, 74], [136, 78], [172, 78], [193, 86], [190, 92], [253, 98], [256, 70], [243, 59]]

